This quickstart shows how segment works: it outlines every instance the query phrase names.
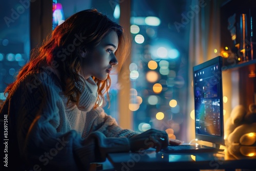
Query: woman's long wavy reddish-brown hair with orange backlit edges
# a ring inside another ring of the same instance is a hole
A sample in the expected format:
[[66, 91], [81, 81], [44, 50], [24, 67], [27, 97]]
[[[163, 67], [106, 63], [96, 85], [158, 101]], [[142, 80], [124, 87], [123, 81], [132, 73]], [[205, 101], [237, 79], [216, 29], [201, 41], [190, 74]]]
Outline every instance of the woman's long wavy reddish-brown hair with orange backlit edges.
[[[81, 92], [76, 83], [82, 84], [79, 75], [81, 69], [80, 51], [90, 52], [109, 32], [118, 35], [118, 49], [115, 55], [118, 59], [117, 71], [130, 52], [130, 40], [124, 35], [123, 28], [96, 9], [83, 10], [70, 16], [57, 26], [39, 48], [31, 51], [30, 61], [19, 71], [16, 80], [9, 84], [5, 93], [9, 93], [14, 85], [22, 80], [32, 70], [40, 70], [42, 65], [55, 67], [60, 74], [62, 91], [68, 97], [68, 102], [78, 104]], [[104, 93], [109, 98], [111, 78], [99, 80], [92, 77], [98, 86], [98, 98], [95, 108], [104, 100]]]

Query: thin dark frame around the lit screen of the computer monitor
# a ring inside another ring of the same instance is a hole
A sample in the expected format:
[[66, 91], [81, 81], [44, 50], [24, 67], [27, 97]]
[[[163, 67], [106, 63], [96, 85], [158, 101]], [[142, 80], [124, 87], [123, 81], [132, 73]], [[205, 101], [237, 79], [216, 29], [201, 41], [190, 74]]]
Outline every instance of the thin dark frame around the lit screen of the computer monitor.
[[[202, 140], [202, 141], [207, 141], [207, 142], [211, 142], [214, 144], [222, 144], [224, 145], [224, 116], [223, 116], [223, 90], [222, 90], [222, 57], [221, 56], [217, 56], [215, 58], [212, 58], [208, 61], [205, 61], [197, 66], [193, 67], [193, 93], [195, 93], [195, 72], [201, 69], [204, 69], [206, 67], [212, 66], [215, 63], [219, 63], [219, 68], [220, 68], [220, 72], [218, 74], [219, 77], [219, 84], [220, 84], [220, 124], [221, 124], [221, 135], [220, 136], [210, 136], [210, 135], [203, 135], [203, 134], [196, 134], [196, 139], [198, 140]], [[196, 104], [195, 104], [195, 94], [194, 94], [194, 109], [196, 109]], [[196, 111], [195, 111], [195, 130], [196, 130]]]

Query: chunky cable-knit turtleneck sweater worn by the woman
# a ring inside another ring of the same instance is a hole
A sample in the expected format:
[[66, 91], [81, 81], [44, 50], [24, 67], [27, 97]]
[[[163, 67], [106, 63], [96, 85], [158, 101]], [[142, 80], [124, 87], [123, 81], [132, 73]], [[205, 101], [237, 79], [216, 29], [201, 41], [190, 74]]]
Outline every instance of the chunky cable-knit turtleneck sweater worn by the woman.
[[[110, 152], [127, 152], [136, 132], [121, 129], [115, 119], [93, 109], [97, 85], [84, 80], [79, 105], [66, 105], [58, 73], [30, 72], [7, 97], [0, 111], [8, 114], [9, 167], [20, 170], [87, 170]], [[14, 161], [14, 162], [13, 162]], [[12, 163], [13, 162], [13, 163]], [[15, 165], [12, 165], [15, 164]]]

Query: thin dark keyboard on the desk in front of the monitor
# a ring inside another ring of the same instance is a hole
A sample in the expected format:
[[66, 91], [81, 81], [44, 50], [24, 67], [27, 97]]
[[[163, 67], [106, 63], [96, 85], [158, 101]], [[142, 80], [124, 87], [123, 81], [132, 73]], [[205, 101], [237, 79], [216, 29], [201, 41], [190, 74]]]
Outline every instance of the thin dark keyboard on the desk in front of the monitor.
[[198, 145], [198, 144], [186, 144], [186, 145], [168, 145], [161, 150], [164, 153], [217, 153], [224, 151], [224, 149]]

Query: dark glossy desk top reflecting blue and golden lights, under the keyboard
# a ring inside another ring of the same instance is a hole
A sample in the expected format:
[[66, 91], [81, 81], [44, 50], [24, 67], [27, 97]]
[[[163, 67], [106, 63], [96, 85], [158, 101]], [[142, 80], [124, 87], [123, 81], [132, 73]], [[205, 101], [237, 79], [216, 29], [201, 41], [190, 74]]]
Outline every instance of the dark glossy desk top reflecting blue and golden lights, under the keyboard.
[[256, 147], [249, 148], [244, 155], [239, 148], [235, 149], [232, 154], [228, 149], [218, 153], [165, 154], [150, 148], [141, 153], [112, 153], [108, 159], [116, 170], [123, 171], [256, 168]]

